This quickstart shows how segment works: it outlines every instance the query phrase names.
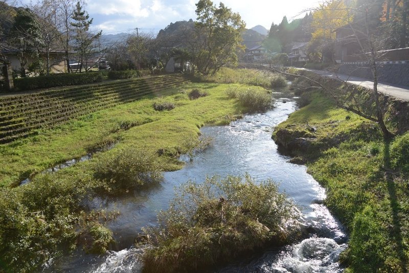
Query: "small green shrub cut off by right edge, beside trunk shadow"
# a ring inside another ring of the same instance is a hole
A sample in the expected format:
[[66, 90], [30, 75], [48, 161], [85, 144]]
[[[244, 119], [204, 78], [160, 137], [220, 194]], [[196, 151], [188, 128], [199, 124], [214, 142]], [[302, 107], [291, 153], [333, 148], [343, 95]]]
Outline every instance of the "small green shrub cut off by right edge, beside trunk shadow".
[[391, 146], [391, 165], [409, 172], [409, 133], [397, 137]]

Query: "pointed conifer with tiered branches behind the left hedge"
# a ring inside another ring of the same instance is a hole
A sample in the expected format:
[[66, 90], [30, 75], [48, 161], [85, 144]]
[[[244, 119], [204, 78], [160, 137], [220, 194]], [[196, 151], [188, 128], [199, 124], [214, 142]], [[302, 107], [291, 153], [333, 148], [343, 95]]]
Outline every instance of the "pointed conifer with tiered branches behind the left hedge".
[[74, 22], [71, 22], [71, 26], [75, 28], [75, 49], [77, 50], [79, 58], [80, 72], [85, 62], [85, 71], [88, 70], [88, 60], [90, 54], [96, 48], [94, 41], [101, 37], [102, 31], [97, 33], [89, 32], [89, 25], [92, 24], [93, 18], [89, 19], [89, 15], [81, 7], [81, 3], [77, 2], [76, 9], [73, 14]]

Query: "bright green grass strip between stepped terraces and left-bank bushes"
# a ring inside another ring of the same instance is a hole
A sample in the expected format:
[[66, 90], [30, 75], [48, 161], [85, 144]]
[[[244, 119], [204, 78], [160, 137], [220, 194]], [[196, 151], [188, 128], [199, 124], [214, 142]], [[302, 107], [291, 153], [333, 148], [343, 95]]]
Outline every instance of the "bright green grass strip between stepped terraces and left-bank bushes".
[[[176, 156], [186, 153], [197, 141], [199, 128], [204, 124], [226, 124], [244, 108], [225, 95], [228, 85], [191, 84], [184, 89], [200, 88], [209, 96], [197, 100], [169, 89], [156, 96], [168, 96], [166, 101], [175, 109], [155, 111], [153, 104], [162, 99], [146, 99], [100, 110], [70, 121], [57, 128], [39, 130], [38, 135], [0, 145], [0, 186], [16, 185], [57, 163], [79, 158], [104, 143], [119, 142], [121, 147], [143, 147]], [[259, 87], [255, 87], [259, 88]], [[260, 87], [260, 89], [262, 89]], [[124, 130], [122, 128], [127, 128]], [[165, 160], [165, 170], [181, 168], [172, 160]]]

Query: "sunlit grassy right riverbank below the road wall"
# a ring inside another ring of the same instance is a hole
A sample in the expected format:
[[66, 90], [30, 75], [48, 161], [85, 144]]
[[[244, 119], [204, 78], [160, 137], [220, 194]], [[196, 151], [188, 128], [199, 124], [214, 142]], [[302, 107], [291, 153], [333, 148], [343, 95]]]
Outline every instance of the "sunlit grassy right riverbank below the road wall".
[[342, 261], [351, 272], [406, 272], [409, 133], [385, 143], [376, 124], [324, 94], [304, 94], [305, 101], [273, 138], [327, 189], [325, 203], [350, 233]]

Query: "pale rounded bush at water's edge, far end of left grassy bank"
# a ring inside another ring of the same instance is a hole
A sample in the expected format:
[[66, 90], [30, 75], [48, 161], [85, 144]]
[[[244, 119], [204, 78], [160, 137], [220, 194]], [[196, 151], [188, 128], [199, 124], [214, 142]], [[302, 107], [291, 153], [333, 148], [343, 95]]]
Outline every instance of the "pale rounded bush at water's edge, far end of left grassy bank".
[[272, 106], [271, 94], [255, 88], [238, 88], [231, 86], [226, 89], [229, 98], [237, 98], [240, 103], [251, 111], [265, 111]]

